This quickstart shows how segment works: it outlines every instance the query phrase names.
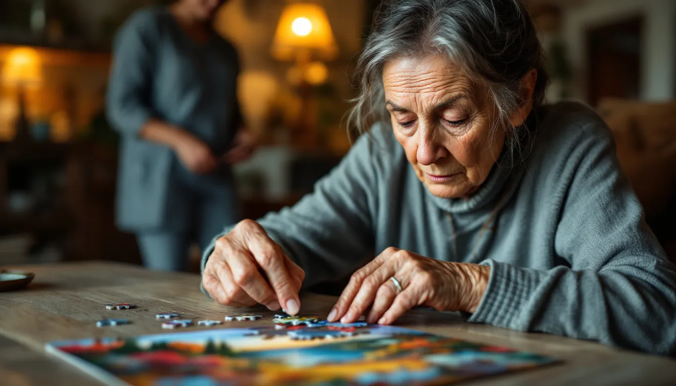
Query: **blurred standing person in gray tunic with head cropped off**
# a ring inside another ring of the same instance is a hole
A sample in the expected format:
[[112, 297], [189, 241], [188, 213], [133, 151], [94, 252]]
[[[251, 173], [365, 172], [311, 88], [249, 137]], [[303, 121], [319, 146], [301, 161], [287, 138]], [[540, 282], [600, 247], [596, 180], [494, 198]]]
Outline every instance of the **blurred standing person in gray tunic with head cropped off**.
[[141, 9], [116, 36], [107, 117], [122, 134], [118, 226], [137, 235], [145, 266], [183, 270], [236, 222], [231, 164], [254, 137], [237, 101], [237, 51], [212, 26], [224, 0]]

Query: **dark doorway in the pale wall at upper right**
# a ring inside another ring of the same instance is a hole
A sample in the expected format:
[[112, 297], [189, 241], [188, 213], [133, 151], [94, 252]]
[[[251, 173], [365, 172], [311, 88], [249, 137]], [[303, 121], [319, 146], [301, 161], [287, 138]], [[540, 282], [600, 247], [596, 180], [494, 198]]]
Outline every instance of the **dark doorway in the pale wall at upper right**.
[[603, 97], [638, 99], [641, 84], [643, 16], [587, 31], [589, 102]]

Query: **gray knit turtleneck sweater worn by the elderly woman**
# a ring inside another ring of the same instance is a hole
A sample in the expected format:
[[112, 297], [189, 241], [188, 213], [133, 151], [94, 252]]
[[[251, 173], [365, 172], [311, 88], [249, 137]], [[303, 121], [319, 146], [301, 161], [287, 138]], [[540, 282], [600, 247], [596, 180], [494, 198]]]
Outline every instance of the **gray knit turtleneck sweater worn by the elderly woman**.
[[676, 267], [644, 222], [610, 130], [578, 103], [537, 118], [525, 161], [496, 165], [469, 199], [431, 195], [391, 128], [374, 128], [314, 193], [259, 222], [306, 271], [304, 285], [393, 246], [490, 266], [469, 322], [673, 354]]

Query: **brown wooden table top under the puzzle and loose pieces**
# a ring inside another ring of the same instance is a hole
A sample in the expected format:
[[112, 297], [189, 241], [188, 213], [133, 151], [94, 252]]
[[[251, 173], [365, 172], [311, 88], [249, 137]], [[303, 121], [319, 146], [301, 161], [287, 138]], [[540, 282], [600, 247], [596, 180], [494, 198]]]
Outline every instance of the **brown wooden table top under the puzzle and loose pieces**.
[[[203, 295], [199, 291], [199, 276], [194, 274], [153, 272], [132, 265], [98, 262], [10, 268], [35, 272], [36, 279], [28, 289], [0, 293], [1, 385], [101, 385], [84, 372], [43, 354], [45, 343], [165, 333], [166, 330], [158, 328], [155, 314], [167, 310], [180, 312], [187, 318], [212, 319], [221, 319], [232, 311]], [[137, 309], [124, 314], [132, 324], [97, 328], [97, 320], [111, 315], [102, 305], [115, 301], [137, 304]], [[334, 301], [335, 297], [306, 293], [301, 296], [301, 314], [325, 316]], [[272, 316], [266, 308], [247, 311]], [[268, 318], [234, 323], [251, 327], [270, 322]], [[470, 324], [452, 313], [414, 311], [397, 324], [478, 343], [506, 345], [563, 361], [545, 368], [479, 379], [474, 385], [676, 385], [676, 360], [669, 358], [613, 349], [590, 341]]]

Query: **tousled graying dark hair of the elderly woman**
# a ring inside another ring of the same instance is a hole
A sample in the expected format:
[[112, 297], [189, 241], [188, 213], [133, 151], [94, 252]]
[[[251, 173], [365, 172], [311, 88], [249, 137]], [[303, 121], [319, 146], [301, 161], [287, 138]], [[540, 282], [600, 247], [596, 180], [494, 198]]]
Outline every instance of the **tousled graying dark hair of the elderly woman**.
[[[357, 62], [360, 95], [347, 114], [348, 127], [362, 134], [372, 124], [387, 124], [383, 67], [396, 57], [426, 53], [448, 55], [485, 87], [498, 112], [491, 132], [508, 127], [523, 102], [521, 80], [533, 68], [537, 70], [533, 107], [543, 102], [548, 76], [533, 21], [521, 1], [385, 0], [375, 12]], [[524, 133], [507, 134], [513, 158]]]

